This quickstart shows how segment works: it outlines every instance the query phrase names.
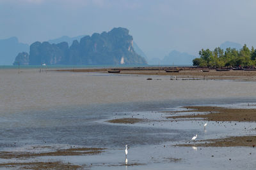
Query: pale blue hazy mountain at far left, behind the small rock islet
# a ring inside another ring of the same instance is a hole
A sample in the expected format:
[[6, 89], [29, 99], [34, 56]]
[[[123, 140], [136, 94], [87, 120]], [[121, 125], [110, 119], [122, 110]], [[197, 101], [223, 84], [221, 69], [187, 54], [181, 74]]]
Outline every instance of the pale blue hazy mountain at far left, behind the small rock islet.
[[20, 43], [16, 37], [0, 39], [0, 66], [11, 65], [19, 52], [29, 52], [29, 45]]

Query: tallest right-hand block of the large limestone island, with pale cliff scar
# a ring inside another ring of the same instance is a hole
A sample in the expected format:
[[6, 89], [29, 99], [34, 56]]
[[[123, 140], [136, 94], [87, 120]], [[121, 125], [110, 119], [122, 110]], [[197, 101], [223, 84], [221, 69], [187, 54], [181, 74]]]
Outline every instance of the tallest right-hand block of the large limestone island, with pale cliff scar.
[[120, 64], [124, 57], [124, 64], [146, 64], [145, 59], [134, 52], [132, 41], [129, 31], [120, 27], [84, 36], [80, 43], [74, 41], [70, 46], [70, 59], [72, 64]]

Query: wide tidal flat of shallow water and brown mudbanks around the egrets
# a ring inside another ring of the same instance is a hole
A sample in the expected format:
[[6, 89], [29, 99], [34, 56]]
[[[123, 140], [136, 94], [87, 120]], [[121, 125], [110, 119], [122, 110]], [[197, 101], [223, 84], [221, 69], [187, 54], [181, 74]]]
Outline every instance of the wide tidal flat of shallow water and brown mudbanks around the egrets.
[[254, 76], [198, 81], [100, 71], [0, 74], [1, 168], [256, 167]]

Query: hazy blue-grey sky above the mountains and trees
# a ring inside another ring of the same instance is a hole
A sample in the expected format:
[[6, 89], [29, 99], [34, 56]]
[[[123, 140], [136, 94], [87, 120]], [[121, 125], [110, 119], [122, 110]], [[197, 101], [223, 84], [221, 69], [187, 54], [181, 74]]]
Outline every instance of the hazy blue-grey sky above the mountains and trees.
[[129, 29], [152, 57], [224, 41], [256, 46], [255, 0], [0, 0], [0, 39], [21, 42]]

